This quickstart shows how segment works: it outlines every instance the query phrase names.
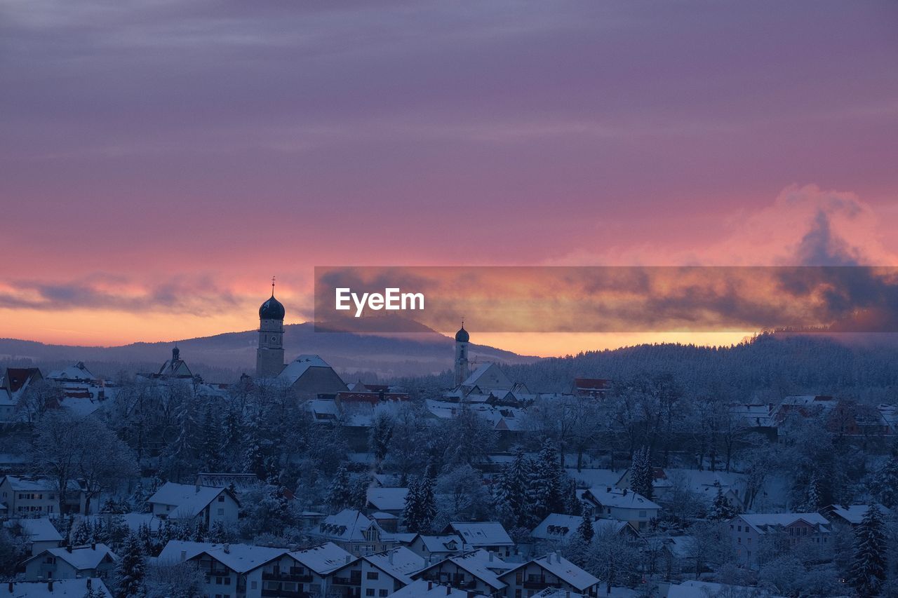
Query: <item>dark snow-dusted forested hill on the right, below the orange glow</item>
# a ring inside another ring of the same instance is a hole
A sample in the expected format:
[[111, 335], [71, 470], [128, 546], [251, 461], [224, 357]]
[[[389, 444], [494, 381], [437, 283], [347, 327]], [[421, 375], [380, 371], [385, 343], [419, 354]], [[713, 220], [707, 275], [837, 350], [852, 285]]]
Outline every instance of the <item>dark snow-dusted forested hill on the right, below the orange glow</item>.
[[898, 344], [847, 344], [820, 336], [764, 334], [733, 347], [641, 345], [509, 365], [532, 391], [568, 391], [575, 377], [627, 382], [672, 374], [684, 390], [767, 402], [788, 394], [898, 400]]

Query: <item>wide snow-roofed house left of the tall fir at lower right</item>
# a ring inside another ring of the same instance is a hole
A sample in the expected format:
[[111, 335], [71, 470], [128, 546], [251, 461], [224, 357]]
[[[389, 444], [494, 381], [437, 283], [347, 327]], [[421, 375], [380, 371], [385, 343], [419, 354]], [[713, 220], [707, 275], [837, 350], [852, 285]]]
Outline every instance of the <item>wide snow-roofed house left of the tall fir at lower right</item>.
[[830, 541], [832, 524], [819, 513], [740, 514], [728, 523], [737, 558], [748, 567], [758, 562], [763, 543], [779, 549], [804, 542]]

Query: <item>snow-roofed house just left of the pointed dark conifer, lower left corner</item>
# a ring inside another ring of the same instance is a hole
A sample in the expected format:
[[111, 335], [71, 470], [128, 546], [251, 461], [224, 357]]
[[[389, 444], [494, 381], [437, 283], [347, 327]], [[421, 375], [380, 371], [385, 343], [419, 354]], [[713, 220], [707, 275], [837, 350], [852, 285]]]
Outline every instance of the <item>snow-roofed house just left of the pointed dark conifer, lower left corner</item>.
[[26, 581], [42, 579], [74, 579], [75, 577], [100, 577], [112, 575], [119, 557], [106, 544], [66, 546], [43, 550], [25, 560]]

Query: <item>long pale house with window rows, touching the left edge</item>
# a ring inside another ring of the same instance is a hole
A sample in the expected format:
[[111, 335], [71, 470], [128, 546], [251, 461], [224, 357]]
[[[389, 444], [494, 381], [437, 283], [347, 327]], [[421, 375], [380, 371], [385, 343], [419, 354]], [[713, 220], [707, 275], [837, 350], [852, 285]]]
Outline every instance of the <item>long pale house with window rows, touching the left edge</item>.
[[[9, 517], [37, 517], [59, 510], [57, 484], [48, 478], [6, 475], [0, 479], [0, 502]], [[75, 480], [68, 482], [64, 507], [66, 513], [84, 513], [87, 493]]]

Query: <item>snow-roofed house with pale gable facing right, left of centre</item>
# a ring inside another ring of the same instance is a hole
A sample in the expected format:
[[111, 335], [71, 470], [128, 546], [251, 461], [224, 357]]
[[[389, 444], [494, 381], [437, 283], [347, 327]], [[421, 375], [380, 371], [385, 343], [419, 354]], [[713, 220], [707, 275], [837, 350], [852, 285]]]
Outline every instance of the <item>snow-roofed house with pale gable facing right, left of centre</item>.
[[165, 482], [146, 502], [157, 517], [202, 523], [207, 529], [216, 523], [237, 523], [240, 509], [237, 497], [227, 488], [174, 482]]

